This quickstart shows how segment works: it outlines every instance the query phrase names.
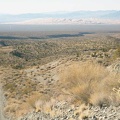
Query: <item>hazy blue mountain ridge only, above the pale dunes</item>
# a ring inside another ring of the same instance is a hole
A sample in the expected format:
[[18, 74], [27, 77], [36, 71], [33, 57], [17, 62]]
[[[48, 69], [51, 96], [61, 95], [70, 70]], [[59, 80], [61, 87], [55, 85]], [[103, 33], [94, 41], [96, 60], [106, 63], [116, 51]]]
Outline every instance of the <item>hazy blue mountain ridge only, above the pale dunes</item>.
[[[51, 13], [26, 13], [18, 15], [0, 14], [0, 23], [16, 23], [33, 19], [107, 19], [120, 20], [120, 10], [106, 11], [73, 11], [73, 12], [51, 12]], [[102, 22], [101, 22], [102, 23]]]

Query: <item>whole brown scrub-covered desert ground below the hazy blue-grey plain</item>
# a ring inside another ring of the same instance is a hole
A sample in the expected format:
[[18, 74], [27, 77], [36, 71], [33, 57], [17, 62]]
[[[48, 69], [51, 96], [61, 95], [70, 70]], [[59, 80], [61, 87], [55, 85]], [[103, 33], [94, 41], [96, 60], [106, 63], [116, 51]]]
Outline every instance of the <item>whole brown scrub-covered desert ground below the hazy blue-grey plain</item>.
[[120, 30], [87, 28], [0, 29], [0, 120], [120, 119]]

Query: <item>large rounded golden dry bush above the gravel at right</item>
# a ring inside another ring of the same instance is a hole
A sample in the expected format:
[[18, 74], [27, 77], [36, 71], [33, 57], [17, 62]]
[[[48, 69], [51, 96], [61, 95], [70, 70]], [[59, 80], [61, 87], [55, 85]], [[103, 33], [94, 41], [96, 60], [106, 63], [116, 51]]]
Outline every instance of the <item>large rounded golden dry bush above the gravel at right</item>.
[[[72, 97], [74, 102], [110, 104], [114, 98], [113, 88], [120, 87], [118, 80], [118, 74], [110, 73], [97, 63], [74, 63], [61, 74], [61, 89]], [[116, 100], [120, 102], [118, 98]]]

